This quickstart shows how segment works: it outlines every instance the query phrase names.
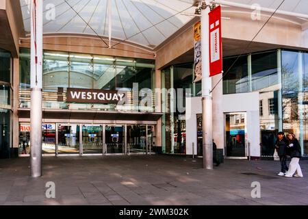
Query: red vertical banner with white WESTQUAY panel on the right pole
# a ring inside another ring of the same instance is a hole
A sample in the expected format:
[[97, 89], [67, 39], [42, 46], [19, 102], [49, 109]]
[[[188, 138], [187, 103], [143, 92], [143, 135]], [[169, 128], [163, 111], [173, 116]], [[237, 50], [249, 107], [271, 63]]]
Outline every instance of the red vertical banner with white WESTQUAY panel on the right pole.
[[209, 77], [222, 73], [220, 5], [209, 12]]

